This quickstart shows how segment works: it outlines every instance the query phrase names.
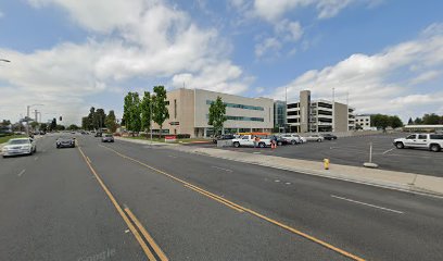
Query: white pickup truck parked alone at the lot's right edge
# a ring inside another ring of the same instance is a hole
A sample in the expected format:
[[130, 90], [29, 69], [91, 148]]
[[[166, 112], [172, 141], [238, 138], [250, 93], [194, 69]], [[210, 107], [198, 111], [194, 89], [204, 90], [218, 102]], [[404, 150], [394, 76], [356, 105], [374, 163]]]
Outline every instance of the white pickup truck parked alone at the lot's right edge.
[[397, 149], [427, 148], [439, 152], [443, 148], [443, 134], [412, 134], [406, 138], [394, 139]]

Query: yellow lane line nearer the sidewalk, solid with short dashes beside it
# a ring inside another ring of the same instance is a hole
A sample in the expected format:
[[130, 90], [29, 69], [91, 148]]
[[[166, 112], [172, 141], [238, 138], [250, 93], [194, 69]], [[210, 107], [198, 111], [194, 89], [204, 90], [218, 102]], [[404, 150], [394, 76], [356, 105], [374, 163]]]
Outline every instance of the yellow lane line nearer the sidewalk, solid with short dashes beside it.
[[283, 228], [283, 229], [287, 229], [287, 231], [289, 231], [289, 232], [291, 232], [291, 233], [293, 233], [293, 234], [296, 234], [296, 235], [299, 235], [299, 236], [301, 236], [301, 237], [304, 237], [304, 238], [306, 238], [306, 239], [308, 239], [308, 240], [311, 240], [311, 241], [313, 241], [313, 243], [316, 243], [316, 244], [318, 244], [318, 245], [320, 245], [320, 246], [322, 246], [322, 247], [325, 247], [325, 248], [327, 248], [327, 249], [330, 249], [330, 250], [332, 250], [332, 251], [334, 251], [334, 252], [338, 252], [338, 253], [340, 253], [340, 254], [342, 254], [342, 256], [344, 256], [344, 257], [346, 257], [346, 258], [349, 258], [349, 259], [356, 260], [356, 261], [365, 261], [365, 259], [363, 259], [363, 258], [360, 258], [360, 257], [358, 257], [358, 256], [355, 256], [355, 254], [353, 254], [353, 253], [351, 253], [351, 252], [347, 252], [347, 251], [345, 251], [345, 250], [343, 250], [343, 249], [341, 249], [341, 248], [334, 247], [334, 246], [332, 246], [332, 245], [329, 244], [329, 243], [326, 243], [326, 241], [324, 241], [324, 240], [321, 240], [321, 239], [318, 239], [318, 238], [316, 238], [316, 237], [314, 237], [314, 236], [311, 236], [311, 235], [308, 235], [308, 234], [306, 234], [306, 233], [304, 233], [304, 232], [301, 232], [301, 231], [295, 229], [295, 228], [293, 228], [293, 227], [291, 227], [291, 226], [289, 226], [289, 225], [286, 225], [286, 224], [283, 224], [283, 223], [280, 223], [280, 222], [276, 221], [276, 220], [274, 220], [274, 219], [270, 219], [270, 217], [268, 217], [268, 216], [266, 216], [266, 215], [264, 215], [264, 214], [261, 214], [261, 213], [258, 213], [258, 212], [255, 212], [254, 210], [251, 210], [251, 209], [244, 208], [244, 207], [242, 207], [242, 206], [240, 206], [240, 204], [237, 204], [237, 203], [235, 203], [235, 202], [232, 202], [232, 201], [230, 201], [230, 200], [227, 200], [227, 199], [225, 199], [225, 198], [223, 198], [223, 197], [220, 197], [220, 196], [218, 196], [218, 195], [215, 195], [215, 194], [213, 194], [213, 192], [210, 192], [210, 191], [207, 191], [207, 190], [205, 190], [205, 189], [203, 189], [203, 188], [200, 188], [200, 187], [198, 187], [198, 186], [195, 186], [195, 185], [192, 185], [192, 184], [190, 184], [190, 183], [188, 183], [188, 182], [185, 182], [183, 179], [180, 179], [180, 178], [178, 178], [178, 177], [176, 177], [176, 176], [173, 176], [173, 175], [170, 175], [170, 174], [168, 174], [168, 173], [166, 173], [166, 172], [164, 172], [164, 171], [161, 171], [161, 170], [155, 169], [155, 167], [153, 167], [153, 166], [150, 166], [150, 165], [148, 165], [148, 164], [145, 164], [145, 163], [143, 163], [143, 162], [141, 162], [141, 161], [139, 161], [139, 160], [136, 160], [136, 159], [134, 159], [134, 158], [130, 158], [130, 157], [128, 157], [128, 156], [125, 156], [125, 154], [123, 154], [123, 153], [121, 153], [121, 152], [118, 152], [118, 151], [116, 151], [116, 150], [114, 150], [114, 149], [112, 149], [112, 148], [109, 148], [109, 147], [102, 146], [102, 145], [100, 145], [100, 146], [103, 147], [103, 148], [105, 148], [105, 149], [107, 149], [107, 150], [113, 151], [114, 153], [116, 153], [117, 156], [119, 156], [119, 157], [122, 157], [122, 158], [124, 158], [124, 159], [130, 160], [130, 161], [136, 162], [136, 163], [138, 163], [138, 164], [140, 164], [140, 165], [142, 165], [142, 166], [145, 166], [145, 167], [148, 167], [148, 169], [150, 169], [150, 170], [152, 170], [152, 171], [154, 171], [154, 172], [157, 172], [157, 173], [163, 174], [163, 175], [165, 175], [165, 176], [167, 176], [167, 177], [170, 177], [172, 179], [183, 184], [185, 187], [188, 187], [188, 188], [190, 188], [190, 189], [192, 189], [192, 190], [194, 190], [194, 191], [197, 191], [197, 192], [199, 192], [199, 194], [202, 194], [202, 195], [204, 195], [204, 196], [206, 196], [206, 197], [208, 197], [208, 198], [212, 198], [212, 199], [214, 199], [214, 200], [216, 200], [216, 201], [218, 201], [218, 202], [220, 202], [220, 203], [223, 203], [223, 204], [225, 204], [225, 206], [227, 206], [227, 207], [229, 207], [229, 208], [231, 208], [231, 209], [235, 209], [235, 210], [237, 210], [237, 211], [239, 211], [239, 212], [248, 212], [248, 213], [250, 213], [250, 214], [252, 214], [252, 215], [254, 215], [254, 216], [256, 216], [256, 217], [258, 217], [258, 219], [262, 219], [262, 220], [264, 220], [264, 221], [267, 221], [267, 222], [269, 222], [269, 223], [271, 223], [271, 224], [274, 224], [274, 225], [277, 225], [277, 226], [279, 226], [279, 227], [281, 227], [281, 228]]

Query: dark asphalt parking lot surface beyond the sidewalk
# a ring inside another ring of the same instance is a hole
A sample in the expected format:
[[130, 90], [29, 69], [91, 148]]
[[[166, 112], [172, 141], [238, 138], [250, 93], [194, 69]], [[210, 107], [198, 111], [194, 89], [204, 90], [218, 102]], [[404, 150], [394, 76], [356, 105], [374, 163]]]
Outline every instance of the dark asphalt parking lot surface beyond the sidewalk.
[[[220, 149], [314, 161], [329, 159], [331, 164], [362, 166], [364, 162], [369, 161], [369, 144], [372, 142], [372, 162], [377, 163], [379, 169], [443, 176], [443, 152], [394, 148], [392, 141], [406, 135], [400, 133], [345, 137], [324, 142], [312, 141], [296, 146], [280, 146], [274, 150], [243, 147]], [[198, 146], [216, 148], [213, 144]]]

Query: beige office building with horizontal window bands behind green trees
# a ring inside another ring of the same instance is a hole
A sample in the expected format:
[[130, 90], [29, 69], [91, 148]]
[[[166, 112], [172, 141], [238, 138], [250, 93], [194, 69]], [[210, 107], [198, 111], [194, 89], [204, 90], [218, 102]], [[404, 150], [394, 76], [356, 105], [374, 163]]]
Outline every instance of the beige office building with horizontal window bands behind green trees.
[[[207, 124], [210, 105], [217, 97], [226, 104], [227, 121], [223, 132], [271, 132], [274, 127], [274, 100], [246, 98], [235, 95], [202, 90], [175, 89], [167, 92], [169, 119], [163, 124], [168, 134], [189, 134], [191, 137], [211, 137]], [[154, 129], [160, 127], [154, 124]]]

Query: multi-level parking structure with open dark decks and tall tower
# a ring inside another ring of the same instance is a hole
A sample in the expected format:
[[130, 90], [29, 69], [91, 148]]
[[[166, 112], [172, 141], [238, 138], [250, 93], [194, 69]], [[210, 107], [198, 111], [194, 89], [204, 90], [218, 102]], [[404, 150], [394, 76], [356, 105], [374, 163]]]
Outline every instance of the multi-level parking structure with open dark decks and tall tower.
[[329, 100], [312, 100], [309, 90], [300, 91], [298, 102], [288, 102], [291, 133], [349, 132], [355, 128], [355, 109]]

